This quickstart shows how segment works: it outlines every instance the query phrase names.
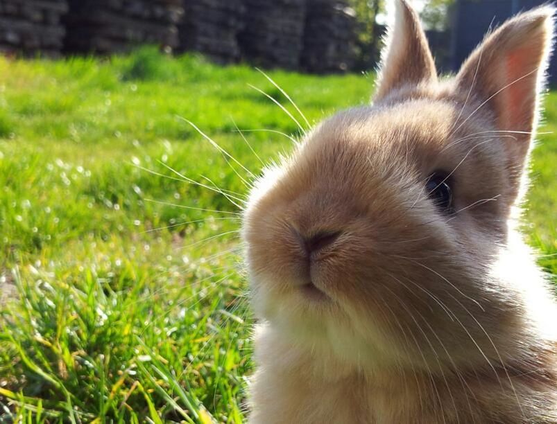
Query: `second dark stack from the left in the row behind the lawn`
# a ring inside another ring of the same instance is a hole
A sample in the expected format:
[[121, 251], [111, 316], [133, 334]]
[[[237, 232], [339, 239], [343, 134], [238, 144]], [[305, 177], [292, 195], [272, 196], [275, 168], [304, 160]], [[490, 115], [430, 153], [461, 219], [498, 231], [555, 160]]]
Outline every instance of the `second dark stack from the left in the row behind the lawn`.
[[182, 0], [69, 0], [65, 51], [117, 53], [139, 44], [178, 46]]

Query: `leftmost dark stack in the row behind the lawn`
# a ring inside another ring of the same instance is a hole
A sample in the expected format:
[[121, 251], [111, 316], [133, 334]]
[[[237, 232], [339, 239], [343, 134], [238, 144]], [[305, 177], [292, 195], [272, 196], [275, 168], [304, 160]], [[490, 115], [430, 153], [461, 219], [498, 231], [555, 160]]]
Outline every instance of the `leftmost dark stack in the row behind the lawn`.
[[67, 0], [0, 0], [0, 51], [58, 55]]

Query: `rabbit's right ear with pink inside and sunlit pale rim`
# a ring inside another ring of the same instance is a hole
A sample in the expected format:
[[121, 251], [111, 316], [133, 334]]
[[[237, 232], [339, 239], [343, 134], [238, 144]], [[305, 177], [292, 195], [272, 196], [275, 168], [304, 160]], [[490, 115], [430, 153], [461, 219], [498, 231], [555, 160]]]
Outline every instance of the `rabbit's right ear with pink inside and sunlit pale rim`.
[[[538, 120], [538, 100], [545, 82], [555, 8], [542, 6], [506, 21], [472, 52], [456, 76], [464, 93], [479, 104], [472, 114], [493, 114], [504, 134], [508, 168], [522, 170]], [[470, 100], [468, 100], [470, 103]], [[469, 116], [469, 115], [468, 115]], [[463, 114], [459, 119], [468, 118]]]

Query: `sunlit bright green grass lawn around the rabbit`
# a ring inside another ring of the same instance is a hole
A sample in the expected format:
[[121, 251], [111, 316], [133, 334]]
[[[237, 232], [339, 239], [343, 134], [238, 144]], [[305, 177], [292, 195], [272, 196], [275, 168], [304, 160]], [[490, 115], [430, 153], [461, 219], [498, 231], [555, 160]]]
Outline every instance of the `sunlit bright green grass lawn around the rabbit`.
[[[310, 122], [372, 90], [368, 76], [270, 75]], [[246, 193], [247, 171], [179, 116], [256, 175], [250, 146], [264, 161], [289, 149], [277, 132], [295, 123], [248, 84], [286, 105], [250, 67], [153, 49], [0, 59], [0, 421], [242, 421], [252, 363], [238, 208], [169, 168]], [[557, 129], [556, 100], [543, 131]], [[236, 125], [277, 132], [246, 132], [248, 145]], [[535, 152], [526, 217], [554, 274], [556, 138]]]

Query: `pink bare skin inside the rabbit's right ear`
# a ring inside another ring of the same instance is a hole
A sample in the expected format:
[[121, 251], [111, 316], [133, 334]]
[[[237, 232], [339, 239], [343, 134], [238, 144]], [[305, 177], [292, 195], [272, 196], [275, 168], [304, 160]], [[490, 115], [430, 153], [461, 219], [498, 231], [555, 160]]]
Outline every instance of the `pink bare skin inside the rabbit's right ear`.
[[[532, 51], [517, 48], [506, 58], [506, 85], [503, 93], [504, 130], [530, 131], [535, 107], [535, 69], [532, 67]], [[506, 93], [505, 93], [506, 91]]]

